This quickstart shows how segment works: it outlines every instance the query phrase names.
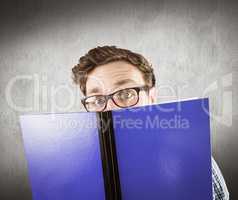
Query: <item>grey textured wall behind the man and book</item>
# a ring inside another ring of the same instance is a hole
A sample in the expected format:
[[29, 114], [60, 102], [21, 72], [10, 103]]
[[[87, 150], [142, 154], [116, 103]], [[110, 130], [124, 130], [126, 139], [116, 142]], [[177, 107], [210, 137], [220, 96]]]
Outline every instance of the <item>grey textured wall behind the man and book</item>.
[[158, 101], [209, 96], [214, 157], [238, 198], [238, 3], [1, 1], [0, 199], [30, 199], [18, 116], [82, 109], [71, 67], [117, 45], [155, 68]]

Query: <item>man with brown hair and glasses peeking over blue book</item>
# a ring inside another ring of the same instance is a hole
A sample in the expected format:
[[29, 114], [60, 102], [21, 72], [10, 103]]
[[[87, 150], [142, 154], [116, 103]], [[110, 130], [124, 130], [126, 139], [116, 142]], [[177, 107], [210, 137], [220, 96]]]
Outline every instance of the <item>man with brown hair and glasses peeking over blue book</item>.
[[[97, 47], [82, 56], [72, 71], [89, 112], [155, 103], [155, 75], [140, 54], [116, 46]], [[213, 159], [212, 181], [213, 199], [228, 200], [225, 181]]]

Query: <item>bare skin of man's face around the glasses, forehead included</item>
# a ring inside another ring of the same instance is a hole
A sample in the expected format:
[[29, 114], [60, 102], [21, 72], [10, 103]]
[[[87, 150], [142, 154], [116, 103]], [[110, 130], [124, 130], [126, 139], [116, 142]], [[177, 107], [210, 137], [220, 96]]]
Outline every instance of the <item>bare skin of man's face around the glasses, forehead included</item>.
[[[96, 67], [89, 73], [86, 82], [86, 95], [109, 95], [115, 91], [140, 87], [146, 85], [143, 74], [135, 66], [124, 62], [115, 61]], [[140, 91], [139, 101], [134, 106], [148, 105], [155, 102], [155, 90]], [[107, 110], [119, 109], [111, 99], [108, 100]]]

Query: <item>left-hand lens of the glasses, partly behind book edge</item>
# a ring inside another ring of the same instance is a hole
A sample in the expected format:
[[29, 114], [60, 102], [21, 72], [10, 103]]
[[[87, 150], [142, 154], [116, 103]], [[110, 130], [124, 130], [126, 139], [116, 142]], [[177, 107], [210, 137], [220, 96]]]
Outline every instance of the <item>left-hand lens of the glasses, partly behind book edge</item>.
[[93, 96], [85, 100], [86, 109], [90, 112], [102, 111], [105, 107], [106, 99], [104, 96]]

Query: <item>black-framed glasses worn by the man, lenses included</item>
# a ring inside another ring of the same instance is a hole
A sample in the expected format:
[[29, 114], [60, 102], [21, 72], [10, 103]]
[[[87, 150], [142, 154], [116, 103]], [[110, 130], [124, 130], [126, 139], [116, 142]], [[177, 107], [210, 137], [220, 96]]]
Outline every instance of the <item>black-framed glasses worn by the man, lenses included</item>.
[[149, 91], [149, 89], [149, 86], [125, 88], [109, 95], [93, 95], [85, 97], [81, 102], [88, 112], [104, 111], [109, 99], [120, 108], [128, 108], [138, 103], [140, 91]]

